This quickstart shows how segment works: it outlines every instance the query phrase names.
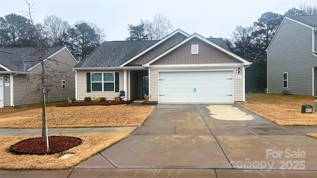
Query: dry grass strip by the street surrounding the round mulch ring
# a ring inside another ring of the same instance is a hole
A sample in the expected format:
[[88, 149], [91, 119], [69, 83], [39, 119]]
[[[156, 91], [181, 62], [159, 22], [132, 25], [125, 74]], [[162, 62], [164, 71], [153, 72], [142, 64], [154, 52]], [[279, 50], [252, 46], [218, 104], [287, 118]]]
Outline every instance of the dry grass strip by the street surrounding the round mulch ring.
[[[8, 151], [10, 145], [30, 136], [0, 136], [0, 169], [5, 170], [61, 170], [69, 169], [101, 152], [129, 134], [72, 135], [82, 139], [82, 144], [53, 155], [15, 155]], [[39, 136], [32, 136], [39, 137]], [[64, 154], [74, 154], [58, 159]]]

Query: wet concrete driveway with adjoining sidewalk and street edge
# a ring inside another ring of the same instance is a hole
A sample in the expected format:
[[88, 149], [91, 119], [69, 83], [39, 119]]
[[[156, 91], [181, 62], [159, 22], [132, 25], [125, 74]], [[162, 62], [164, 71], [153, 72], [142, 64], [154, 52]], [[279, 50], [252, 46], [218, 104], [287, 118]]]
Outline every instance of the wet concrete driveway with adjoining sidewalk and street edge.
[[280, 127], [234, 104], [159, 104], [143, 126], [126, 129], [129, 137], [75, 169], [1, 170], [0, 177], [317, 177], [317, 139], [303, 135], [317, 127]]

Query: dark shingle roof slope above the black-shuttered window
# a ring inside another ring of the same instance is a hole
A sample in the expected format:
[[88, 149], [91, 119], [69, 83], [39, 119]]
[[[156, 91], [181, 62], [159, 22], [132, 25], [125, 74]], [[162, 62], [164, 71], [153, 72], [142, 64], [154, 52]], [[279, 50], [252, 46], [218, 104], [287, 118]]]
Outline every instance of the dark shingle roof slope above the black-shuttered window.
[[80, 61], [75, 68], [117, 67], [157, 42], [157, 40], [104, 42]]

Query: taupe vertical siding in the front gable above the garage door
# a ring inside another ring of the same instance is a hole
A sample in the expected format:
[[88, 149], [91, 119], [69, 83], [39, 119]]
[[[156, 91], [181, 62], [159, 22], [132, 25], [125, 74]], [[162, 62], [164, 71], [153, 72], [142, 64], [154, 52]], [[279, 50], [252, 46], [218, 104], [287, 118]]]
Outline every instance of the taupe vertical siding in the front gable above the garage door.
[[[191, 45], [199, 45], [199, 54], [191, 54]], [[195, 38], [163, 56], [153, 65], [215, 63], [239, 63], [239, 61]]]

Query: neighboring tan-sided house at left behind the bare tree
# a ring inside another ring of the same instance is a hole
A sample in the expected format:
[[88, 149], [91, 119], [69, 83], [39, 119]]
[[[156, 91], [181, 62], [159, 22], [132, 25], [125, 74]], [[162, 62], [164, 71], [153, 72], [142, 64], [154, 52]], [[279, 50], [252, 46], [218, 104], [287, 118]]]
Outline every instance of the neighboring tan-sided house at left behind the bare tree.
[[46, 74], [52, 78], [46, 79], [51, 81], [47, 89], [50, 101], [67, 100], [68, 96], [75, 98], [72, 67], [77, 62], [65, 46], [4, 47], [0, 48], [0, 107], [41, 103], [40, 91], [31, 94], [41, 86], [42, 59], [39, 56], [43, 56]]

